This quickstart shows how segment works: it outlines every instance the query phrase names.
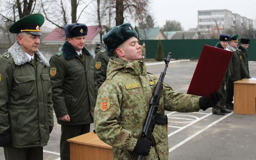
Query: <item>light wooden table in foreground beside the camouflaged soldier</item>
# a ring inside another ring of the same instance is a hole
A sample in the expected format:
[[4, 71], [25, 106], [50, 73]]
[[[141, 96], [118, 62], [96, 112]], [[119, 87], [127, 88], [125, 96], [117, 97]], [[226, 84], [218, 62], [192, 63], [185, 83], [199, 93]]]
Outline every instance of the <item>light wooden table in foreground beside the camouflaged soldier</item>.
[[[71, 131], [72, 132], [72, 131]], [[113, 159], [112, 147], [89, 132], [67, 140], [70, 142], [71, 160]]]

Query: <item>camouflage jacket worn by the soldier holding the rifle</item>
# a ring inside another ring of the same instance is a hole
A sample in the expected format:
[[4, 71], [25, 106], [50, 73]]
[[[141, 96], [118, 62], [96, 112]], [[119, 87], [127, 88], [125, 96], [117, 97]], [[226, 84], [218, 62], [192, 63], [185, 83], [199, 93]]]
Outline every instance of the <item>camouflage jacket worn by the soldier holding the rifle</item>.
[[[114, 159], [132, 159], [130, 154], [137, 159], [138, 155], [132, 151], [137, 139], [141, 138], [157, 80], [156, 76], [147, 73], [142, 60], [109, 60], [107, 79], [98, 92], [94, 124], [99, 138], [113, 147]], [[199, 98], [164, 84], [157, 113], [164, 115], [164, 110], [196, 112], [200, 109]], [[168, 159], [165, 126], [155, 124], [153, 136], [156, 146], [151, 147], [146, 159]]]

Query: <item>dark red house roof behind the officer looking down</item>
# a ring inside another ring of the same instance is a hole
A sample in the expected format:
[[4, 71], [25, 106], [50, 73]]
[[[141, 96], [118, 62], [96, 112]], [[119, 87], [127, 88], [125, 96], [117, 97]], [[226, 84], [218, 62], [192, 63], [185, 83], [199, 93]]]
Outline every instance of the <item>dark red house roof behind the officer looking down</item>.
[[[102, 25], [101, 28], [105, 28], [105, 25]], [[99, 26], [87, 26], [88, 34], [86, 40], [91, 41], [100, 31]], [[51, 33], [49, 33], [43, 41], [64, 41], [65, 32], [62, 28], [55, 28]]]

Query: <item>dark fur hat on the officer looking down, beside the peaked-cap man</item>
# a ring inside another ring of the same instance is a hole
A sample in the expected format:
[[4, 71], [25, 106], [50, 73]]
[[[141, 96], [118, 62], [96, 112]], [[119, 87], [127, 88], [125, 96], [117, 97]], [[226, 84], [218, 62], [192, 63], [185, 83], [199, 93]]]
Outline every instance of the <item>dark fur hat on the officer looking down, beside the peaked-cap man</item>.
[[85, 24], [71, 23], [64, 26], [66, 38], [86, 36], [88, 28]]

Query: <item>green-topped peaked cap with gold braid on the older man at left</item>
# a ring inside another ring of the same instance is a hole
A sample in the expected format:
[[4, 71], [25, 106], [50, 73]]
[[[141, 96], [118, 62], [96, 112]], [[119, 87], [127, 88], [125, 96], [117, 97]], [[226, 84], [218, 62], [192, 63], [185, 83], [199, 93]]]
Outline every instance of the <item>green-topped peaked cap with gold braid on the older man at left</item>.
[[41, 27], [44, 24], [44, 16], [39, 13], [29, 14], [14, 22], [9, 28], [11, 33], [26, 32], [32, 35], [42, 36]]

